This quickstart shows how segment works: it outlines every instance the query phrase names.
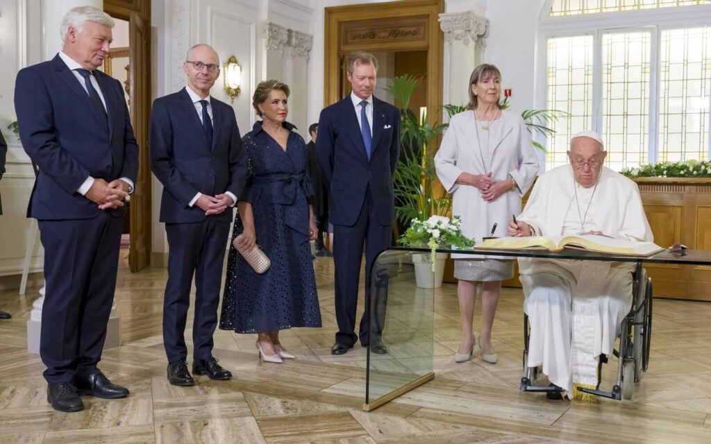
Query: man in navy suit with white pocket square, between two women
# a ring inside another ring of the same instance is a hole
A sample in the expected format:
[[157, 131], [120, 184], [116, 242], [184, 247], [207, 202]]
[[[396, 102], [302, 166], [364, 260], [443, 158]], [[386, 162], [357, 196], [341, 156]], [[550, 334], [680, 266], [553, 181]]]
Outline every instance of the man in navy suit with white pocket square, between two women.
[[[333, 224], [338, 332], [332, 354], [360, 343], [384, 354], [383, 320], [370, 320], [370, 269], [376, 255], [392, 242], [395, 199], [392, 173], [400, 156], [400, 112], [373, 97], [378, 60], [370, 53], [348, 55], [353, 92], [321, 112], [316, 153], [328, 187]], [[365, 243], [365, 312], [355, 335], [360, 264]]]

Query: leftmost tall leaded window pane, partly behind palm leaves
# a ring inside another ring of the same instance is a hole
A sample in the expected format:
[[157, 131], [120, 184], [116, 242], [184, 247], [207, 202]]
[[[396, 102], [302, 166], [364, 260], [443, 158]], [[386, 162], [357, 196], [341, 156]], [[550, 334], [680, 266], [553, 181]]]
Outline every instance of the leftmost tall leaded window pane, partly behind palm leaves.
[[557, 131], [549, 137], [546, 168], [567, 163], [570, 137], [592, 128], [592, 36], [548, 39], [548, 109], [571, 115], [550, 124]]

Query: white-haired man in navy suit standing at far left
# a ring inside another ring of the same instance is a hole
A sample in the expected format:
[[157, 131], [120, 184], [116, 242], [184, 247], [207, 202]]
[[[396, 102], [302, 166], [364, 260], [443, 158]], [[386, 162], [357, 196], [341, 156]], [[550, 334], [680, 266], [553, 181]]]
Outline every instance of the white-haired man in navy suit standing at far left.
[[81, 6], [63, 18], [63, 49], [18, 72], [20, 139], [39, 167], [28, 217], [45, 250], [46, 296], [40, 355], [47, 401], [79, 411], [80, 394], [123, 398], [97, 368], [116, 287], [124, 197], [138, 173], [124, 91], [97, 70], [109, 53], [114, 21]]

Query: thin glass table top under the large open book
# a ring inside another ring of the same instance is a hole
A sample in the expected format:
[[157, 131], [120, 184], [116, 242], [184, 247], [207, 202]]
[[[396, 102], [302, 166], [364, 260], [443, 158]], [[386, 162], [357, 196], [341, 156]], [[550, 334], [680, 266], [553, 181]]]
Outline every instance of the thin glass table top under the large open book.
[[[412, 253], [429, 253], [426, 248], [390, 247], [385, 251], [406, 251]], [[602, 253], [586, 249], [565, 248], [562, 251], [552, 252], [546, 249], [437, 249], [439, 253], [474, 254], [478, 256], [508, 256], [508, 257], [533, 257], [545, 259], [577, 259], [585, 261], [609, 262], [641, 262], [643, 264], [685, 264], [685, 265], [711, 265], [711, 250], [683, 250], [683, 254], [671, 252], [668, 249], [651, 256], [629, 256], [624, 254]]]

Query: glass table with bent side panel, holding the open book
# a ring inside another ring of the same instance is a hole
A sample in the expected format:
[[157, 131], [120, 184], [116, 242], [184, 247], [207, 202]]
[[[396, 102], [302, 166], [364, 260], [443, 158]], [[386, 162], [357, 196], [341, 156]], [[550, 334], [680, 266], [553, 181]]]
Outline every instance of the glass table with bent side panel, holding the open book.
[[[652, 256], [622, 256], [567, 248], [551, 253], [538, 249], [438, 249], [439, 253], [632, 262], [636, 276], [643, 264], [711, 265], [711, 251], [661, 251]], [[429, 249], [391, 247], [380, 253], [370, 273], [370, 332], [378, 334], [386, 354], [368, 348], [363, 410], [372, 411], [434, 378], [434, 292], [415, 283], [413, 256]], [[417, 261], [415, 261], [417, 262]], [[429, 278], [428, 278], [429, 279]], [[431, 274], [434, 287], [434, 273]], [[635, 282], [635, 288], [639, 283]], [[523, 314], [522, 314], [523, 315]]]

